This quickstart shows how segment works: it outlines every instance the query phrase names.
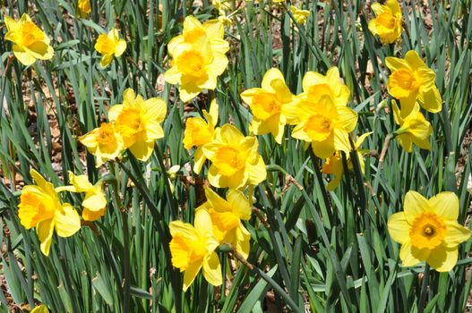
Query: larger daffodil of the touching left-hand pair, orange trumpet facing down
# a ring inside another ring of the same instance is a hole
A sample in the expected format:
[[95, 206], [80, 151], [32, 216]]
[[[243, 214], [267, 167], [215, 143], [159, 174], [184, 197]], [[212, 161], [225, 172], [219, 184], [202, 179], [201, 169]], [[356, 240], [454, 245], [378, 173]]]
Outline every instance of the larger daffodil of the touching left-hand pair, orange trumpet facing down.
[[154, 149], [154, 142], [164, 137], [160, 123], [167, 114], [166, 102], [160, 97], [144, 100], [133, 89], [123, 93], [123, 104], [108, 110], [108, 119], [115, 123], [115, 130], [133, 156], [147, 161]]

